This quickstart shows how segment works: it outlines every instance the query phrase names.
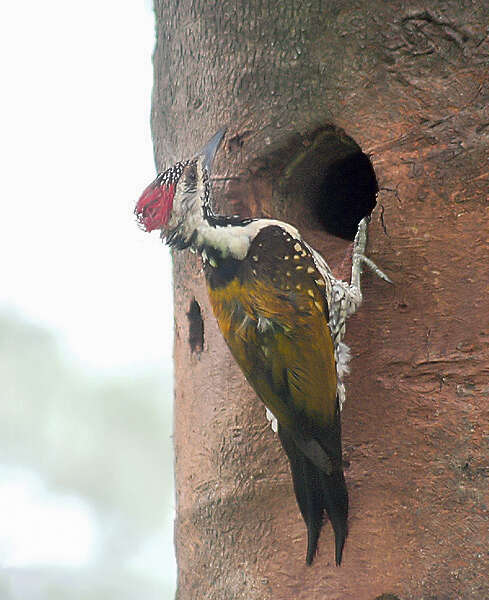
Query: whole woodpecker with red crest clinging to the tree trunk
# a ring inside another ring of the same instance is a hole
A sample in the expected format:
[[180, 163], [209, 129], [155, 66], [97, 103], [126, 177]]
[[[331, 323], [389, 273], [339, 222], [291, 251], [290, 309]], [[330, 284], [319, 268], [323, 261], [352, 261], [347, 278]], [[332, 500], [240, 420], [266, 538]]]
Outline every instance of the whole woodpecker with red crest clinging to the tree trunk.
[[365, 256], [366, 218], [348, 284], [292, 225], [215, 215], [210, 174], [224, 135], [218, 131], [192, 159], [160, 173], [135, 214], [146, 231], [161, 230], [168, 245], [201, 255], [222, 335], [289, 459], [307, 527], [306, 562], [313, 561], [326, 512], [339, 565], [348, 517], [340, 411], [350, 352], [342, 340], [347, 317], [362, 302], [362, 264], [389, 279]]

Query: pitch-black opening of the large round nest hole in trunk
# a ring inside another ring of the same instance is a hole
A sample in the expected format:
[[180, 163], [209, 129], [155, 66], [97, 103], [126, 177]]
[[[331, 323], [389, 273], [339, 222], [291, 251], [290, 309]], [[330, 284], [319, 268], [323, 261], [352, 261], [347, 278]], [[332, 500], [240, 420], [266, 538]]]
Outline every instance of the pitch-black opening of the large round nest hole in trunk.
[[332, 162], [321, 184], [316, 215], [326, 231], [353, 240], [358, 223], [375, 208], [377, 179], [361, 150]]

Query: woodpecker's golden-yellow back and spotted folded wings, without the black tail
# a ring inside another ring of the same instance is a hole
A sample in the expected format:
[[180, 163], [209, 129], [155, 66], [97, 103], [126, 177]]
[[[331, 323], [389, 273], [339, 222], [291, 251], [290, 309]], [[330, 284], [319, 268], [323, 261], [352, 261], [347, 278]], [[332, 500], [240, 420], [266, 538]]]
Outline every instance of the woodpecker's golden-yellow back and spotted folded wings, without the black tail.
[[283, 426], [313, 433], [331, 425], [336, 368], [328, 307], [305, 246], [268, 227], [239, 266], [221, 269], [228, 276], [208, 267], [211, 305], [258, 396]]

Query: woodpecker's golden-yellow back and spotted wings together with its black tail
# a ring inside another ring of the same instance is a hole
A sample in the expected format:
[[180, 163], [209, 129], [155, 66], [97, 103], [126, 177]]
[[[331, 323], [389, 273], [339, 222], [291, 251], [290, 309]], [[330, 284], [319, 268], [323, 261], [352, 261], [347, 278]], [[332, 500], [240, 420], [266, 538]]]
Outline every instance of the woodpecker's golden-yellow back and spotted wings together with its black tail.
[[276, 226], [257, 235], [242, 261], [211, 256], [206, 277], [234, 358], [278, 420], [307, 526], [306, 562], [313, 560], [326, 511], [339, 564], [348, 493], [325, 282], [307, 246]]

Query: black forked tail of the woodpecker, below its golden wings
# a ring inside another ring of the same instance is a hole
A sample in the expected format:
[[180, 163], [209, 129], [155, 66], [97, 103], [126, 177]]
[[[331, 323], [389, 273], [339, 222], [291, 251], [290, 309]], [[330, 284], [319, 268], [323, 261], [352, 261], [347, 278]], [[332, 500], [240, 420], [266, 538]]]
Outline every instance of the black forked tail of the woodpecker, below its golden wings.
[[298, 448], [293, 436], [280, 426], [279, 437], [289, 458], [297, 503], [307, 527], [306, 562], [310, 565], [316, 554], [326, 511], [335, 534], [335, 560], [339, 565], [348, 518], [348, 492], [343, 471], [338, 467], [331, 475], [326, 475]]

